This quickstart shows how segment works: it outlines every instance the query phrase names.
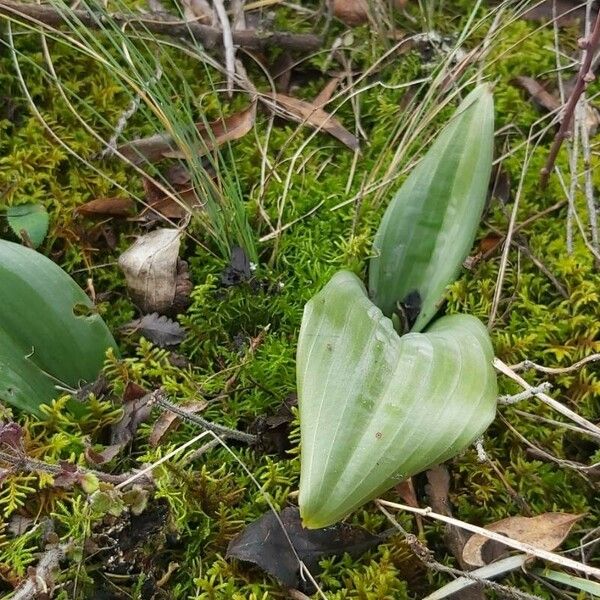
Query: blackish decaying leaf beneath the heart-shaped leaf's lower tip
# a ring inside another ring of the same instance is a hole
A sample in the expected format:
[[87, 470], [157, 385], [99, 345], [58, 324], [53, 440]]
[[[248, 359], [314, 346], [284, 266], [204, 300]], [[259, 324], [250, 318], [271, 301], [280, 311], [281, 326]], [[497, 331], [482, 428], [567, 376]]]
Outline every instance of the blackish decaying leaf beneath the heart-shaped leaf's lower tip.
[[345, 523], [324, 529], [304, 529], [295, 507], [283, 509], [279, 518], [285, 532], [277, 515], [268, 512], [230, 542], [227, 558], [253, 563], [292, 588], [301, 582], [298, 559], [315, 574], [319, 561], [325, 556], [341, 556], [347, 552], [356, 558], [383, 543], [387, 537]]

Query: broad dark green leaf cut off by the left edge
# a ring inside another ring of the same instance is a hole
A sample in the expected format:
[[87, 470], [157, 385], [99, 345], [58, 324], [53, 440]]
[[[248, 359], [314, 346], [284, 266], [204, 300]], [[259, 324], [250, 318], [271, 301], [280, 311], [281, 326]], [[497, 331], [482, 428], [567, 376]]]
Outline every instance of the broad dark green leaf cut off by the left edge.
[[96, 378], [115, 342], [82, 309], [90, 299], [58, 265], [0, 240], [0, 401], [39, 414], [57, 388]]

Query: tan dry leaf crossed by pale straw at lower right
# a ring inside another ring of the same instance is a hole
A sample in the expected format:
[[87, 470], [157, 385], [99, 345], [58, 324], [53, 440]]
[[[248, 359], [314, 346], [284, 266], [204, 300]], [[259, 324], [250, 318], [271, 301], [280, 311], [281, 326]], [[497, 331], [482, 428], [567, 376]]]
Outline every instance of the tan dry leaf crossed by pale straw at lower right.
[[[513, 540], [531, 544], [541, 550], [558, 548], [569, 535], [573, 525], [583, 515], [544, 513], [537, 517], [508, 517], [486, 526], [489, 531], [501, 533]], [[463, 548], [463, 560], [474, 567], [482, 567], [499, 558], [506, 547], [483, 535], [475, 534]]]

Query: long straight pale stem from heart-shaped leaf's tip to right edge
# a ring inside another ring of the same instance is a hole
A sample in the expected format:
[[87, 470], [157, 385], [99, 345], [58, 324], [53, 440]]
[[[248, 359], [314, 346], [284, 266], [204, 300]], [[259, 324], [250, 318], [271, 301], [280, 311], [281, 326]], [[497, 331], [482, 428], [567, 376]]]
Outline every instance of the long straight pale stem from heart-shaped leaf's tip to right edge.
[[580, 571], [581, 573], [585, 573], [586, 575], [590, 575], [591, 577], [596, 577], [600, 579], [600, 569], [597, 569], [596, 567], [585, 565], [576, 560], [571, 560], [570, 558], [565, 558], [560, 554], [549, 552], [548, 550], [543, 550], [542, 548], [536, 548], [535, 546], [532, 546], [531, 544], [527, 544], [525, 542], [513, 540], [512, 538], [509, 538], [500, 533], [496, 533], [495, 531], [490, 531], [489, 529], [484, 529], [483, 527], [478, 527], [477, 525], [471, 525], [470, 523], [466, 523], [465, 521], [455, 519], [454, 517], [447, 517], [446, 515], [441, 515], [439, 513], [433, 512], [429, 507], [414, 508], [406, 504], [398, 504], [396, 502], [388, 502], [387, 500], [381, 499], [376, 500], [376, 502], [380, 507], [388, 506], [390, 508], [396, 508], [398, 510], [405, 510], [416, 515], [421, 515], [423, 517], [435, 519], [436, 521], [443, 521], [444, 523], [455, 525], [456, 527], [460, 527], [461, 529], [471, 531], [472, 533], [478, 533], [479, 535], [482, 535], [487, 539], [500, 542], [501, 544], [509, 546], [510, 548], [515, 548], [520, 552], [525, 552], [526, 554], [536, 556], [537, 558], [541, 558], [542, 560], [547, 560], [554, 564], [561, 565], [563, 567], [568, 567], [570, 569]]

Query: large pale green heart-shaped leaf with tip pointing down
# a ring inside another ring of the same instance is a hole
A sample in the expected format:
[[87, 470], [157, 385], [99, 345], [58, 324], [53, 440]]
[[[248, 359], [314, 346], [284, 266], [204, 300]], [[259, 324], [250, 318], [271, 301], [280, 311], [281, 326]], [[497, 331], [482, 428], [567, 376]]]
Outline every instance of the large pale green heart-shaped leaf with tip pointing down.
[[335, 523], [479, 437], [496, 410], [493, 356], [475, 317], [400, 337], [354, 274], [334, 275], [298, 340], [305, 526]]

